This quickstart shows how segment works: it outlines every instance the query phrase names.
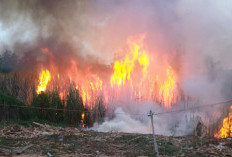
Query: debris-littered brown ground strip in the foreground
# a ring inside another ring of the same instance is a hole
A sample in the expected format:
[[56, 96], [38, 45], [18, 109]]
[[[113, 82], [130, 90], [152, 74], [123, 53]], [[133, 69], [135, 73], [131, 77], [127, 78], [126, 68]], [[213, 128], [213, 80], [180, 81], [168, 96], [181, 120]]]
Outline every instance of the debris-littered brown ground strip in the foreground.
[[[232, 156], [232, 139], [156, 136], [160, 156]], [[0, 126], [0, 156], [154, 156], [152, 135]]]

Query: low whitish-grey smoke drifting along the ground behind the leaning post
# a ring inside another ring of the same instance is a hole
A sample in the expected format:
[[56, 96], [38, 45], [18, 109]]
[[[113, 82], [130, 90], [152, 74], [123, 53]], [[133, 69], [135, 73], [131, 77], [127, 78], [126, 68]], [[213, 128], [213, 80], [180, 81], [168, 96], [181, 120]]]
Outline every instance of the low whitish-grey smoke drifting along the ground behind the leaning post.
[[[173, 117], [175, 118], [173, 119]], [[203, 122], [205, 126], [211, 124], [209, 115], [201, 111], [154, 116], [155, 133], [166, 136], [192, 135], [198, 122]], [[128, 114], [122, 108], [115, 110], [112, 119], [106, 118], [102, 124], [95, 123], [91, 129], [99, 132], [152, 133], [151, 120], [148, 114]]]

